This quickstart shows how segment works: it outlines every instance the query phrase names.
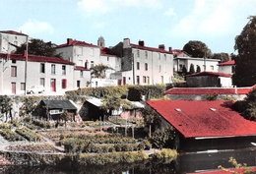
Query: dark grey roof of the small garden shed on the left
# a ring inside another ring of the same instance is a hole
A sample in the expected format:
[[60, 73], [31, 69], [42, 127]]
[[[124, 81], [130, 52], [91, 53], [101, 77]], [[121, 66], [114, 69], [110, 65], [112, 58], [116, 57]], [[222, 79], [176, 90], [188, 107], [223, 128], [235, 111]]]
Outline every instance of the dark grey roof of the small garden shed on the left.
[[43, 99], [41, 100], [49, 109], [77, 110], [77, 107], [68, 99]]

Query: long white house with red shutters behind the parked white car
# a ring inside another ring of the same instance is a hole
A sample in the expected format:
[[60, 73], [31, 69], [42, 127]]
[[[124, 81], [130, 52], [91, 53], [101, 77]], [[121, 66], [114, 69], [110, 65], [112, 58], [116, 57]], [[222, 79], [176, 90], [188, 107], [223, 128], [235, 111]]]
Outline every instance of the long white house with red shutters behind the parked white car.
[[73, 72], [74, 63], [61, 58], [29, 55], [26, 61], [26, 55], [1, 53], [0, 94], [26, 94], [32, 86], [43, 86], [46, 94], [64, 94], [74, 89]]

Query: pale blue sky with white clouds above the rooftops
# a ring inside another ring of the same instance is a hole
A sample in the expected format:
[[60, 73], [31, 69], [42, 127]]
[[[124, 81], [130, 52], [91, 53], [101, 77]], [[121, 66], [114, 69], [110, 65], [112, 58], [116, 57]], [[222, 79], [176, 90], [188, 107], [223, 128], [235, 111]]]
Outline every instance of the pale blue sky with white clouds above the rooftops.
[[256, 15], [256, 0], [1, 0], [0, 30], [63, 44], [67, 38], [105, 46], [123, 38], [165, 49], [190, 40], [213, 53], [235, 53], [234, 38]]

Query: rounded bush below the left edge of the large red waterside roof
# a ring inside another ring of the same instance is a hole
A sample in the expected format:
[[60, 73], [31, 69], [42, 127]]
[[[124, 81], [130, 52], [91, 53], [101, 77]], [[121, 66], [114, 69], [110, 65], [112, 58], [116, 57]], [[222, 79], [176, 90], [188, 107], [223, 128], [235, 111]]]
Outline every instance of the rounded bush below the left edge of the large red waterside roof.
[[172, 127], [157, 130], [152, 138], [151, 143], [157, 148], [169, 147], [173, 143], [174, 129]]

